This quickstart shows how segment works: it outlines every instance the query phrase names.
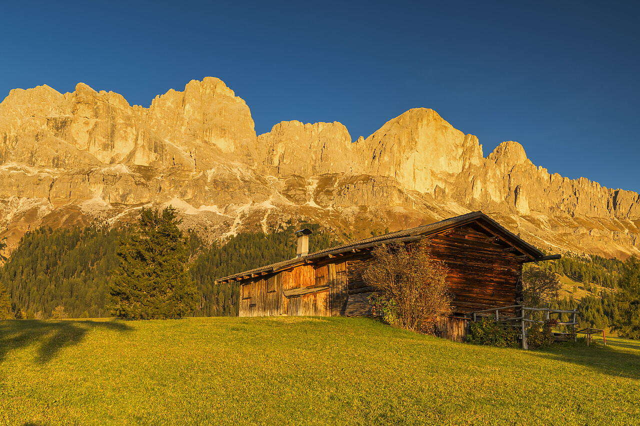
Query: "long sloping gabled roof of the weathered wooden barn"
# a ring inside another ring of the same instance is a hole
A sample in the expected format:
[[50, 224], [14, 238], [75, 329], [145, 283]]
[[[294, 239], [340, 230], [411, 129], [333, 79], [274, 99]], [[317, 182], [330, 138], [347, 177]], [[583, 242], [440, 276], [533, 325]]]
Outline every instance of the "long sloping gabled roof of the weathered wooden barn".
[[341, 255], [348, 251], [369, 249], [380, 244], [387, 244], [390, 242], [417, 241], [452, 228], [458, 228], [458, 226], [467, 225], [468, 223], [472, 222], [478, 223], [488, 232], [497, 235], [500, 239], [502, 239], [502, 241], [513, 246], [514, 248], [518, 249], [518, 251], [527, 256], [527, 260], [523, 260], [523, 262], [543, 260], [543, 257], [545, 257], [544, 253], [542, 253], [540, 250], [523, 241], [522, 239], [520, 239], [520, 237], [509, 232], [506, 228], [494, 221], [491, 217], [486, 216], [486, 214], [484, 214], [483, 212], [478, 211], [463, 214], [461, 216], [450, 217], [449, 219], [444, 219], [442, 221], [431, 223], [429, 225], [417, 226], [415, 228], [377, 235], [376, 237], [371, 237], [360, 241], [349, 242], [348, 244], [342, 244], [342, 246], [316, 251], [305, 256], [285, 260], [284, 262], [262, 266], [259, 268], [251, 269], [250, 271], [239, 272], [225, 278], [220, 278], [216, 281], [239, 281], [252, 277], [255, 278], [259, 275], [283, 271], [284, 269], [289, 269], [294, 265], [303, 264], [305, 262], [312, 262], [314, 260], [319, 260], [320, 258]]

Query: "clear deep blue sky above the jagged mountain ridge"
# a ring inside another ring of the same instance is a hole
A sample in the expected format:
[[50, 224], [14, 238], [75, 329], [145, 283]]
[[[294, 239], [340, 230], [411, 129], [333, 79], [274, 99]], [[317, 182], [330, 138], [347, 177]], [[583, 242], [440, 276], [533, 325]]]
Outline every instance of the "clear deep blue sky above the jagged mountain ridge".
[[258, 134], [369, 136], [414, 107], [551, 173], [640, 192], [636, 1], [28, 1], [0, 5], [0, 99], [83, 82], [148, 107], [218, 77]]

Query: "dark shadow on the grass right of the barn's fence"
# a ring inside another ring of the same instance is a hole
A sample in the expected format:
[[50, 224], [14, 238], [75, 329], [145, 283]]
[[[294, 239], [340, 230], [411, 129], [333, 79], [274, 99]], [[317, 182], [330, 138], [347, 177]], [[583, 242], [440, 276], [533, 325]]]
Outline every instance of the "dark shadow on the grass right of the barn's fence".
[[640, 379], [640, 343], [634, 340], [607, 338], [607, 346], [600, 340], [592, 342], [589, 347], [580, 340], [577, 343], [554, 343], [551, 347], [532, 353], [541, 358], [593, 368], [602, 374]]

